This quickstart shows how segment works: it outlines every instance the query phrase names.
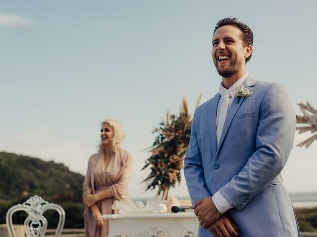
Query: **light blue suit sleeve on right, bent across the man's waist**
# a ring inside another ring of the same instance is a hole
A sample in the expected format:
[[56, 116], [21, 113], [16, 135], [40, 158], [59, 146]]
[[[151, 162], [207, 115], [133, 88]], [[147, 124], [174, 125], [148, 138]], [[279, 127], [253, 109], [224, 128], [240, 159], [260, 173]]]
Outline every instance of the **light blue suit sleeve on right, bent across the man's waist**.
[[262, 191], [283, 169], [292, 149], [296, 128], [294, 109], [283, 85], [264, 93], [256, 136], [256, 152], [238, 175], [220, 188], [237, 209]]

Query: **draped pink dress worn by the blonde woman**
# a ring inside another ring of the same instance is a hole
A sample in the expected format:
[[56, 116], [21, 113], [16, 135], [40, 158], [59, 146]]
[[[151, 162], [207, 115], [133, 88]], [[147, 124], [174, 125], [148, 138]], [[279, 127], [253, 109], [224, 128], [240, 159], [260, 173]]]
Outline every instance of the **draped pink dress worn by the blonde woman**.
[[[115, 200], [129, 199], [128, 182], [132, 175], [133, 158], [130, 153], [121, 149], [111, 158], [105, 170], [104, 157], [105, 153], [102, 150], [89, 158], [87, 174], [83, 184], [83, 197], [110, 189], [113, 197], [102, 199], [96, 204], [102, 214], [115, 214], [116, 211], [111, 209], [112, 203]], [[97, 227], [91, 209], [86, 206], [84, 221], [86, 237], [108, 236], [108, 220], [104, 221], [104, 227]]]

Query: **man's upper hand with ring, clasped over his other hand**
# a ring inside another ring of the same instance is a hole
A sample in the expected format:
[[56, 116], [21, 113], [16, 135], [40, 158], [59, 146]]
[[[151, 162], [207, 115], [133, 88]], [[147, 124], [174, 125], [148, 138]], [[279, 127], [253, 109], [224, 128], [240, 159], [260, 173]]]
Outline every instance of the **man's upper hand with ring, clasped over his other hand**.
[[205, 197], [196, 201], [193, 208], [195, 209], [195, 215], [198, 217], [199, 224], [204, 229], [208, 229], [221, 216], [211, 197]]

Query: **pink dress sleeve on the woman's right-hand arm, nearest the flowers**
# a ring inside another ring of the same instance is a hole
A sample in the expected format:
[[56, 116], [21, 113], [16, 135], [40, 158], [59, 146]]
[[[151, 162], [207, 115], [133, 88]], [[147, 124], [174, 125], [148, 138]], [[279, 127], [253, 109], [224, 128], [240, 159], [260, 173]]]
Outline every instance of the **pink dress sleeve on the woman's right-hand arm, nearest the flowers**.
[[130, 153], [122, 152], [122, 163], [116, 182], [109, 187], [116, 200], [129, 199], [128, 183], [132, 176], [133, 157]]

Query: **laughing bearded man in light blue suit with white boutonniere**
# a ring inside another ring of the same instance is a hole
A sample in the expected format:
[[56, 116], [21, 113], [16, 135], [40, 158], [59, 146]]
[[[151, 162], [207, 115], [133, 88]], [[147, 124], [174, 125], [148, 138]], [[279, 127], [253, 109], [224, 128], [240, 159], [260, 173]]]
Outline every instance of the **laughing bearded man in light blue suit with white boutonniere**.
[[246, 72], [253, 33], [236, 18], [220, 20], [212, 59], [220, 90], [197, 108], [185, 178], [199, 237], [299, 237], [283, 186], [296, 118], [283, 85]]

